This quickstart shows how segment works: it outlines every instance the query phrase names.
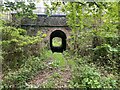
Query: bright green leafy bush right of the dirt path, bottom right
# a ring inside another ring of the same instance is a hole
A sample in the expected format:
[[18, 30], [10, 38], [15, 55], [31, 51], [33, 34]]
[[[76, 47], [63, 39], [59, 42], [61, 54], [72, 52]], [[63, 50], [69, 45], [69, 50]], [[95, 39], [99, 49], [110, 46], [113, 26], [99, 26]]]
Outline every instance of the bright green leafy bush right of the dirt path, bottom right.
[[103, 77], [94, 66], [77, 66], [71, 88], [116, 88], [117, 80], [113, 77]]

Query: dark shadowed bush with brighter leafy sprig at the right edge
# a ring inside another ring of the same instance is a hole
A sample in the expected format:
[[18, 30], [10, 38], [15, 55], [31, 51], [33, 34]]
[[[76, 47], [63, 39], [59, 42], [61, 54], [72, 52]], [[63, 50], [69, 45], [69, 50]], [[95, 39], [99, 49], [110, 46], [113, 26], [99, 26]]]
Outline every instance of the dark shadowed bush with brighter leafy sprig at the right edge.
[[101, 38], [103, 43], [93, 49], [93, 62], [99, 66], [110, 67], [109, 71], [113, 70], [117, 73], [116, 71], [119, 70], [120, 63], [120, 38], [116, 36]]

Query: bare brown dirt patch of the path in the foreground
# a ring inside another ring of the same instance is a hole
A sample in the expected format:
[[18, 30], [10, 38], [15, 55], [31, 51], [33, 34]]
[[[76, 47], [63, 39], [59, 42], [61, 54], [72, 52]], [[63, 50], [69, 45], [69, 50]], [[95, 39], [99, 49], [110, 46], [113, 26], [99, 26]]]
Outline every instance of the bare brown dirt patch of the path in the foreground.
[[[49, 62], [51, 62], [51, 60]], [[55, 73], [59, 74], [61, 78], [56, 79], [51, 77]], [[43, 83], [47, 83], [49, 78], [51, 78], [55, 82], [56, 88], [66, 88], [69, 84], [69, 80], [71, 79], [71, 77], [71, 70], [68, 65], [64, 67], [64, 70], [61, 70], [61, 68], [46, 68], [45, 70], [40, 71], [30, 82], [28, 82], [28, 84], [40, 86]]]

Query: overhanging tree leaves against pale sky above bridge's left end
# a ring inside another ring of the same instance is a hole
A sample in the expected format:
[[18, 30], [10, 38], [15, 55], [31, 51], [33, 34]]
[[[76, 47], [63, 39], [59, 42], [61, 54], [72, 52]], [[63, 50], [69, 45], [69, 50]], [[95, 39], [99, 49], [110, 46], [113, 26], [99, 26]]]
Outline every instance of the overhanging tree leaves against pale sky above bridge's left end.
[[26, 4], [25, 2], [8, 1], [2, 6], [2, 11], [11, 12], [10, 15], [12, 16], [12, 21], [7, 22], [7, 24], [15, 27], [20, 27], [22, 20], [25, 18], [35, 20], [37, 18], [37, 15], [33, 13], [33, 10], [35, 9], [34, 3]]

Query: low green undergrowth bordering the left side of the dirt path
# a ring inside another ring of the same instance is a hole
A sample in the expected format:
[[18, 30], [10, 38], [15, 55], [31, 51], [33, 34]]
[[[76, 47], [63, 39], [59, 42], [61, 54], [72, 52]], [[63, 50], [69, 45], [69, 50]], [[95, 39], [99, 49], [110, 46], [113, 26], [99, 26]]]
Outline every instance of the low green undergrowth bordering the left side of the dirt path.
[[29, 81], [38, 70], [45, 68], [39, 57], [29, 57], [28, 60], [15, 72], [8, 72], [3, 78], [4, 88], [26, 88]]

